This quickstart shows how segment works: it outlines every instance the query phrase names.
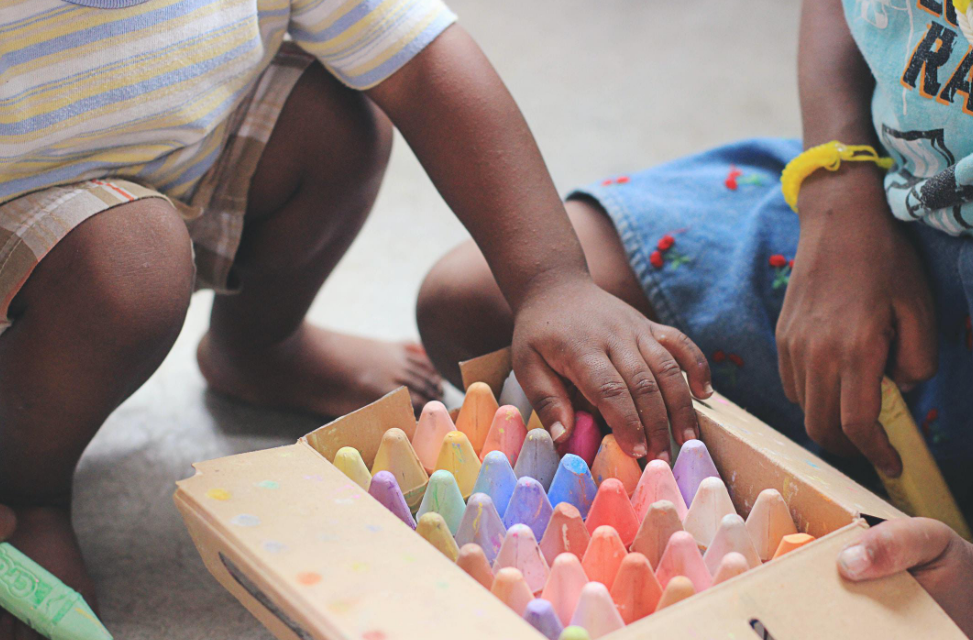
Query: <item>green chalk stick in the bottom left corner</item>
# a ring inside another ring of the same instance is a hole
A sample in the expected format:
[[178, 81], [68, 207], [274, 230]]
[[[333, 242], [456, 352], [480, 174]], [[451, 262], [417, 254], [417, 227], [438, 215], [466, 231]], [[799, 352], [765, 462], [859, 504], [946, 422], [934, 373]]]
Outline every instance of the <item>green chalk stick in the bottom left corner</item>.
[[81, 594], [6, 542], [0, 544], [0, 607], [51, 640], [112, 640]]

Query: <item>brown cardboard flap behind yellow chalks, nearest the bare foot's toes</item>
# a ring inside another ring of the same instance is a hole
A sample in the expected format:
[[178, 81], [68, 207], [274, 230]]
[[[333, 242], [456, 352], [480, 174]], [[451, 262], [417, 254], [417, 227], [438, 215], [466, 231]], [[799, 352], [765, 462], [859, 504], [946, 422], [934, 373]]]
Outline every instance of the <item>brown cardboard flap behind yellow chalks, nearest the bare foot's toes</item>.
[[416, 415], [409, 390], [399, 387], [372, 404], [315, 429], [302, 438], [328, 459], [341, 447], [355, 447], [362, 460], [371, 468], [382, 434], [392, 428], [405, 431], [412, 440], [416, 431]]

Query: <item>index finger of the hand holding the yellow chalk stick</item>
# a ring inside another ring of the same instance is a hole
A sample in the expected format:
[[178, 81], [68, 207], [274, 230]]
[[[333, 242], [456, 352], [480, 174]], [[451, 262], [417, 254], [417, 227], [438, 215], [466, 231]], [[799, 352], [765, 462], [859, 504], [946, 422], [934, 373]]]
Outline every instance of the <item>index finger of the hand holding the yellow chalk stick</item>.
[[862, 364], [841, 379], [841, 428], [875, 467], [897, 478], [902, 473], [902, 460], [878, 423], [882, 410], [882, 370]]

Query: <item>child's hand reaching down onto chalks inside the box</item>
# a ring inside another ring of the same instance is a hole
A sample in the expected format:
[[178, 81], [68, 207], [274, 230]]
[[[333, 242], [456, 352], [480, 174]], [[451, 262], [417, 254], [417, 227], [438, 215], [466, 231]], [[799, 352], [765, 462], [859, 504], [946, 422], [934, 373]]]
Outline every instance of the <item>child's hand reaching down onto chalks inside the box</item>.
[[668, 461], [670, 422], [678, 443], [699, 437], [683, 369], [697, 397], [713, 393], [709, 364], [689, 338], [651, 322], [590, 279], [553, 284], [525, 300], [515, 318], [513, 360], [555, 441], [574, 425], [567, 379], [635, 457], [651, 453]]

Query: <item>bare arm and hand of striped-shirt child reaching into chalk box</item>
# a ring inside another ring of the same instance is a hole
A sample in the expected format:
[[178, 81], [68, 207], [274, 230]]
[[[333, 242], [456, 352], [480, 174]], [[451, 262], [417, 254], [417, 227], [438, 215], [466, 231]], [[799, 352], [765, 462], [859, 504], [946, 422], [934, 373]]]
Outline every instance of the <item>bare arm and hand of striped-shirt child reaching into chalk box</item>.
[[369, 95], [486, 256], [514, 312], [514, 367], [555, 440], [574, 424], [563, 379], [630, 454], [667, 452], [668, 419], [678, 442], [695, 437], [680, 365], [706, 397], [705, 357], [592, 282], [526, 122], [466, 32], [450, 27]]

